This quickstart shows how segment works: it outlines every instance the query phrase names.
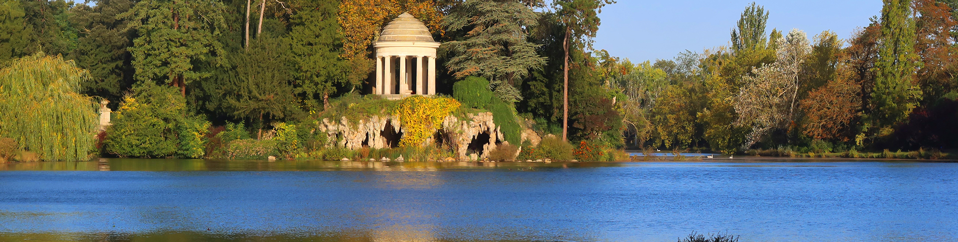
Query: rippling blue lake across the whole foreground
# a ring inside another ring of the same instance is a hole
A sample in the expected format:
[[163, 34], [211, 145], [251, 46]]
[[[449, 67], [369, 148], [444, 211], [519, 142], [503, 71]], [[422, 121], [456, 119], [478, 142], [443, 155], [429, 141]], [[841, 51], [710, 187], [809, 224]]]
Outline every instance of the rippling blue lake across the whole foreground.
[[958, 241], [958, 164], [0, 164], [0, 241]]

